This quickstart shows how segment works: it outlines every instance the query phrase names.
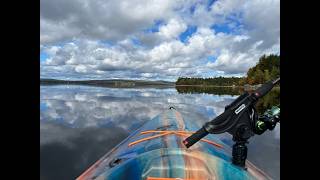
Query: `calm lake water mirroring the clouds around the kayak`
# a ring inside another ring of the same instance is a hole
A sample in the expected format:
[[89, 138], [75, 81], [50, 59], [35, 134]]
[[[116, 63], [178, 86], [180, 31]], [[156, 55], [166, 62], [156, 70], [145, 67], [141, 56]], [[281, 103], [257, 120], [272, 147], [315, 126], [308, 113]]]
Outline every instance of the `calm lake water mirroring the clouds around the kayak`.
[[[222, 113], [239, 94], [234, 90], [67, 85], [40, 86], [40, 91], [42, 180], [75, 179], [132, 131], [170, 106], [182, 116], [192, 114], [195, 121], [204, 123]], [[258, 109], [277, 105], [278, 96], [279, 92], [272, 92], [259, 102]], [[280, 179], [280, 124], [273, 131], [252, 137], [248, 148], [252, 163]]]

